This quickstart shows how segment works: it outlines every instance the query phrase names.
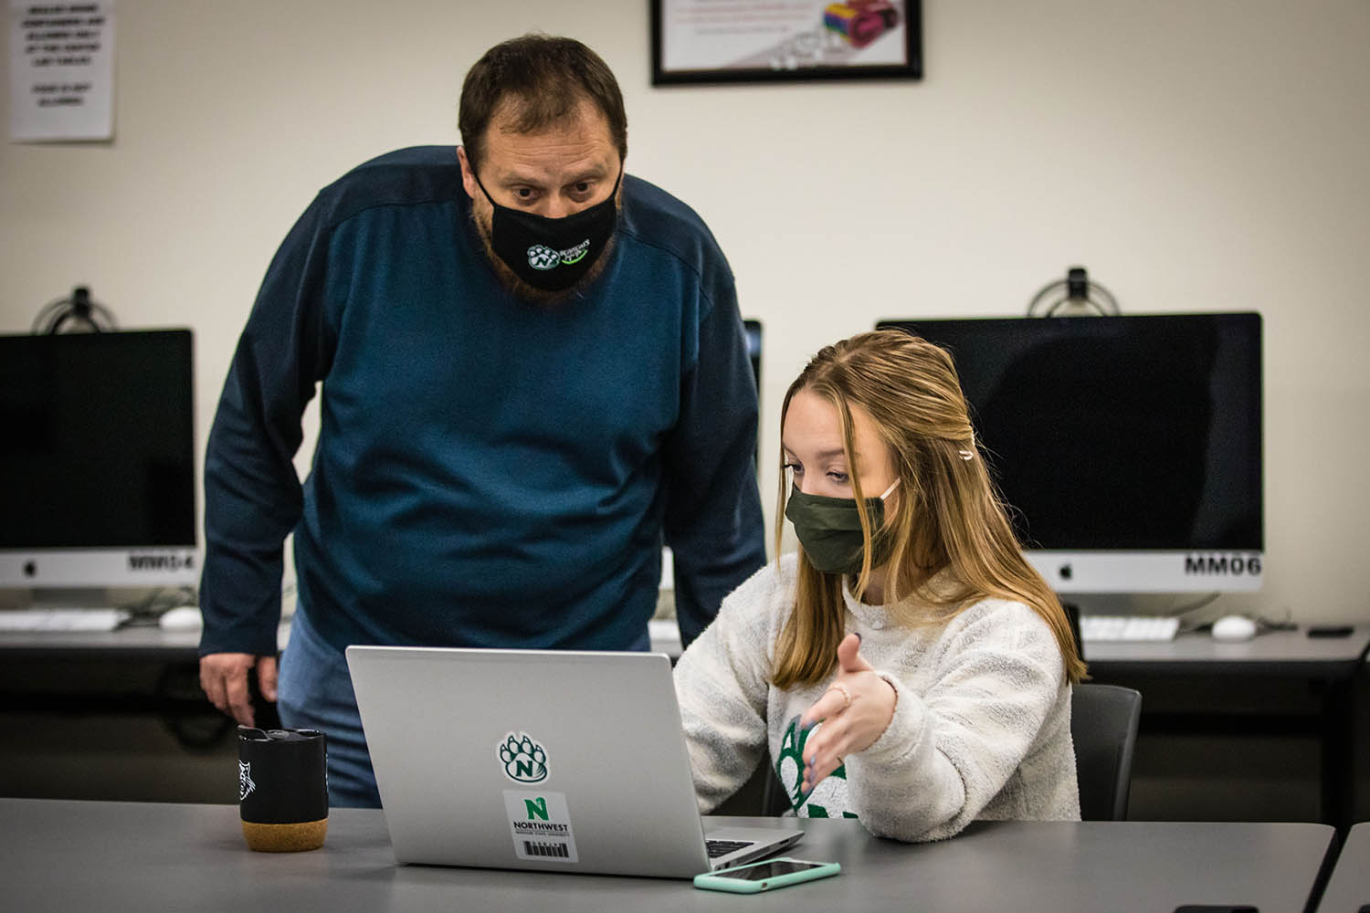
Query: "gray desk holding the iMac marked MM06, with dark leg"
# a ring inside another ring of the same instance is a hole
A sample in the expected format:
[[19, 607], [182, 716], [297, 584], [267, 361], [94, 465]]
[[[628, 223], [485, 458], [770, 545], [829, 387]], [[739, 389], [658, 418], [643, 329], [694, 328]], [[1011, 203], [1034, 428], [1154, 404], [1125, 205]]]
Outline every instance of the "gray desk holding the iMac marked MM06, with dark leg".
[[[1370, 626], [1349, 636], [1270, 631], [1251, 641], [1181, 634], [1162, 642], [1085, 642], [1096, 682], [1143, 694], [1141, 732], [1315, 735], [1321, 749], [1322, 820], [1349, 828], [1355, 808], [1356, 686], [1370, 650]], [[1192, 686], [1192, 687], [1191, 687]], [[1181, 702], [1154, 697], [1178, 690]], [[1289, 695], [1311, 701], [1295, 706]]]

